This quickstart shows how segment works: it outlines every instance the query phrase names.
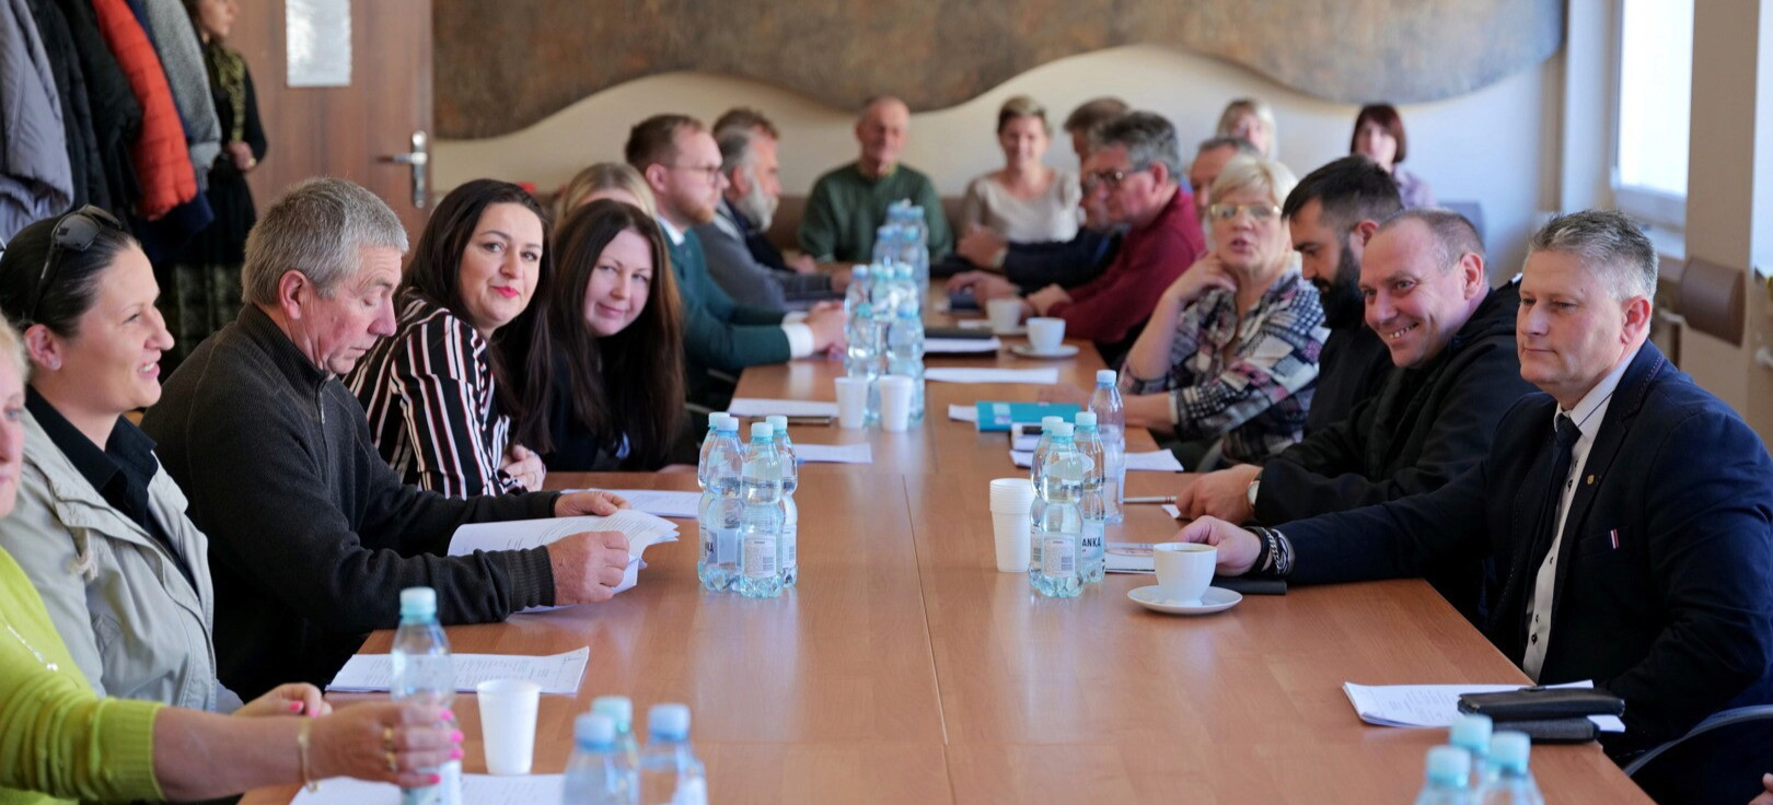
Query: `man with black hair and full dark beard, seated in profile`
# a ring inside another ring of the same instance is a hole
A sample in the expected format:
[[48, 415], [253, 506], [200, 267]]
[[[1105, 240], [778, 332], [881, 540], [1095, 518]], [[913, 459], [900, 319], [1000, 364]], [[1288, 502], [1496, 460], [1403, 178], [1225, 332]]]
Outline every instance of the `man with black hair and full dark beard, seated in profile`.
[[1282, 202], [1280, 215], [1300, 252], [1300, 273], [1317, 285], [1330, 328], [1330, 340], [1317, 356], [1317, 394], [1305, 418], [1307, 436], [1347, 418], [1355, 404], [1379, 392], [1392, 371], [1385, 344], [1360, 321], [1360, 252], [1379, 222], [1402, 209], [1392, 174], [1362, 156], [1344, 156], [1312, 170]]

